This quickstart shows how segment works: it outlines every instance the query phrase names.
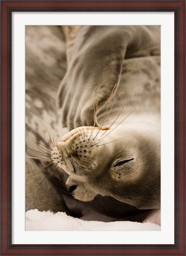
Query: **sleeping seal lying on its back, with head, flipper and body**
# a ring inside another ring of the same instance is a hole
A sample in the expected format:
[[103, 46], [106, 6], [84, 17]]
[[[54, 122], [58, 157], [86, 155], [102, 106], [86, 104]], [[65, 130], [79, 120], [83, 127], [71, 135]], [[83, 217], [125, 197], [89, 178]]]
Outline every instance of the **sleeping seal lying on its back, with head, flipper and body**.
[[109, 216], [159, 209], [160, 28], [79, 26], [64, 32], [67, 72], [58, 106], [70, 132], [51, 159], [68, 174], [67, 190]]

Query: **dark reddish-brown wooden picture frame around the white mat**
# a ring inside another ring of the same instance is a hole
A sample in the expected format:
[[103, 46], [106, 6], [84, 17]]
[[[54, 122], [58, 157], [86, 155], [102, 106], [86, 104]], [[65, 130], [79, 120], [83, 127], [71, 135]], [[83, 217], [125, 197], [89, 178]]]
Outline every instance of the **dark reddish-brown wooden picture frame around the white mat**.
[[[12, 12], [128, 11], [175, 14], [175, 241], [169, 245], [12, 244]], [[185, 0], [1, 1], [1, 255], [185, 255]]]

